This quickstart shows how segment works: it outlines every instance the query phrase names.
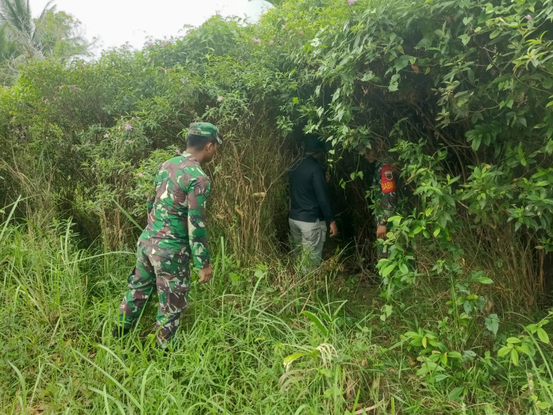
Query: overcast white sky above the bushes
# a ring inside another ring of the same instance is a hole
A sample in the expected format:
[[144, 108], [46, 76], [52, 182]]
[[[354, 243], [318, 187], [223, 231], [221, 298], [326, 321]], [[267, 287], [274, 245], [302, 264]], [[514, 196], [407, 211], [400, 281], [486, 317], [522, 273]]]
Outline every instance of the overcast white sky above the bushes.
[[[30, 0], [37, 17], [48, 0]], [[182, 35], [185, 24], [199, 26], [212, 15], [257, 19], [270, 5], [264, 0], [54, 0], [57, 10], [77, 17], [86, 37], [99, 37], [102, 48], [129, 42], [141, 48], [144, 39]]]

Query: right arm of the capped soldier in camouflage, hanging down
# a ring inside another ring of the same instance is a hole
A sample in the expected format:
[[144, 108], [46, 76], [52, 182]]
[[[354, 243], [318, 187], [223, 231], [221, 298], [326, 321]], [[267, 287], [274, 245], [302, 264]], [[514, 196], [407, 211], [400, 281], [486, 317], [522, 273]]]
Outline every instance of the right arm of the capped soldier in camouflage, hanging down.
[[205, 205], [209, 196], [209, 178], [199, 176], [189, 181], [188, 192], [188, 238], [194, 266], [198, 269], [209, 266], [209, 246], [205, 228]]

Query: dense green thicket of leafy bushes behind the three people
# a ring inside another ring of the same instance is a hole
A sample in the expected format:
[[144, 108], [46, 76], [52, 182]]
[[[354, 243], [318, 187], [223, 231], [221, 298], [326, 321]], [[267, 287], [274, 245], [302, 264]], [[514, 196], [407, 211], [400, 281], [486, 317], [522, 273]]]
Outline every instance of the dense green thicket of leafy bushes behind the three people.
[[259, 24], [214, 17], [138, 52], [34, 59], [0, 91], [3, 203], [24, 194], [29, 219], [130, 243], [124, 212], [144, 223], [158, 162], [211, 121], [227, 138], [209, 167], [213, 239], [260, 258], [285, 240], [286, 171], [316, 132], [369, 257], [359, 148], [385, 142], [410, 194], [379, 264], [388, 293], [482, 269], [532, 304], [553, 250], [552, 17], [550, 0], [283, 1]]

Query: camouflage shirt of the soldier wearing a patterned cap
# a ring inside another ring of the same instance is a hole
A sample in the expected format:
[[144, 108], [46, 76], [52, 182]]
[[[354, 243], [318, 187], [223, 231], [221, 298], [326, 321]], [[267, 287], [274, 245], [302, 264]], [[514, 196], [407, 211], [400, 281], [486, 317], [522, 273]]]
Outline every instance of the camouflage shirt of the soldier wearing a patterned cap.
[[196, 268], [209, 265], [205, 203], [209, 178], [198, 160], [184, 152], [160, 165], [156, 196], [148, 199], [148, 225], [139, 241], [160, 248], [165, 257], [194, 257]]

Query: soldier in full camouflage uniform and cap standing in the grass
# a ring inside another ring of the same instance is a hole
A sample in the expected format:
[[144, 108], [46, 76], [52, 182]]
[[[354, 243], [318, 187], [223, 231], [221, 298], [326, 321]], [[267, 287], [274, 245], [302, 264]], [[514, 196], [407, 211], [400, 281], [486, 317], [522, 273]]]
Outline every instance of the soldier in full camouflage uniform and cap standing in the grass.
[[115, 337], [131, 329], [156, 287], [157, 340], [160, 347], [167, 347], [187, 306], [190, 260], [199, 270], [200, 283], [211, 279], [205, 228], [209, 178], [200, 164], [212, 160], [222, 144], [217, 134], [217, 128], [209, 122], [190, 124], [187, 150], [160, 165], [156, 195], [147, 201], [148, 225], [138, 239], [136, 266], [119, 307]]

